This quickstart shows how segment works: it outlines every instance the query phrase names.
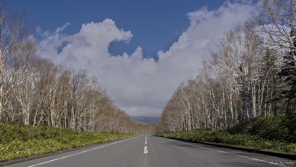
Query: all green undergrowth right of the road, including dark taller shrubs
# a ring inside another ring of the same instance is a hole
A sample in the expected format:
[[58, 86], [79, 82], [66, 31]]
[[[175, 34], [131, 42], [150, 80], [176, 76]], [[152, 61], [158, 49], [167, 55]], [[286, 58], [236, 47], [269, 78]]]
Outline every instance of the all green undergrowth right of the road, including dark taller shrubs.
[[262, 117], [252, 124], [240, 123], [226, 131], [203, 128], [194, 131], [154, 133], [184, 141], [210, 142], [275, 152], [296, 153], [296, 114]]

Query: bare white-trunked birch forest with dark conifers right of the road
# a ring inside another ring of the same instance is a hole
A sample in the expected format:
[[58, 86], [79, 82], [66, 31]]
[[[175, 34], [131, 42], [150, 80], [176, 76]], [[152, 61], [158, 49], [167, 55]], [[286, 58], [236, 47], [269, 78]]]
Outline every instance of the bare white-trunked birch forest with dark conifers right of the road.
[[295, 0], [263, 0], [257, 9], [215, 42], [196, 78], [176, 88], [158, 132], [224, 130], [296, 112]]

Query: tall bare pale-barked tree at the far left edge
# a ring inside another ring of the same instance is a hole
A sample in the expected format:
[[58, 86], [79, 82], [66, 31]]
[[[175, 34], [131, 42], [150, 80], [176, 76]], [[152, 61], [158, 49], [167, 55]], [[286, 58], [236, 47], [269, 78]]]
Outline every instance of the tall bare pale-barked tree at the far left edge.
[[[7, 8], [7, 2], [0, 1], [0, 112], [4, 118], [4, 106], [7, 105], [9, 93], [17, 82], [20, 69], [27, 66], [24, 54], [35, 55], [42, 46], [34, 39], [34, 24], [27, 23], [29, 15], [25, 11], [14, 12]], [[31, 53], [30, 53], [31, 52]], [[12, 57], [14, 60], [12, 61]], [[13, 65], [13, 67], [11, 66]], [[15, 66], [19, 65], [19, 66]], [[7, 74], [10, 73], [10, 74]], [[9, 85], [4, 89], [4, 75], [10, 76]], [[6, 97], [6, 98], [5, 98]]]

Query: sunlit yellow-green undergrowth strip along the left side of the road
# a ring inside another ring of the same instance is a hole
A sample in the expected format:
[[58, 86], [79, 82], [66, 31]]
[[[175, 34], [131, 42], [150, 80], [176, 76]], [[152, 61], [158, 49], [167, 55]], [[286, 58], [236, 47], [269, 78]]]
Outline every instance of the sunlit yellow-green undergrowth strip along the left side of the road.
[[119, 132], [79, 133], [70, 128], [0, 123], [0, 162], [132, 136], [134, 135]]

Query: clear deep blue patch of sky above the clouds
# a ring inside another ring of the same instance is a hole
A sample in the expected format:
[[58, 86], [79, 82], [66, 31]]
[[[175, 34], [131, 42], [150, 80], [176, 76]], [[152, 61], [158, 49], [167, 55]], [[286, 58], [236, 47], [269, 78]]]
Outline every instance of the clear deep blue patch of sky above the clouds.
[[158, 50], [168, 50], [189, 26], [186, 14], [205, 5], [212, 10], [220, 7], [221, 0], [139, 1], [139, 0], [9, 0], [13, 10], [25, 9], [42, 30], [54, 31], [70, 23], [63, 33], [77, 33], [83, 23], [115, 21], [118, 28], [130, 30], [134, 35], [129, 44], [112, 42], [110, 53], [131, 54], [136, 47], [143, 48], [144, 56], [157, 59]]

